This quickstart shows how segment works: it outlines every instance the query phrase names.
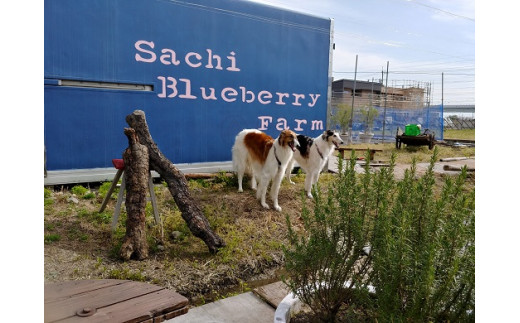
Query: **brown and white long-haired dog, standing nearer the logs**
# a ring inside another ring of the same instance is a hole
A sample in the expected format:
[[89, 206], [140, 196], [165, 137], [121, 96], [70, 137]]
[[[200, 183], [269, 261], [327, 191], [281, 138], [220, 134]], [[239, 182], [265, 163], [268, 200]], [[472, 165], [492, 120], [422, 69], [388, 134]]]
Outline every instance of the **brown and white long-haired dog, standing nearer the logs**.
[[236, 136], [231, 150], [233, 168], [238, 175], [238, 191], [243, 191], [242, 179], [244, 173], [249, 173], [252, 189], [257, 189], [258, 180], [256, 198], [260, 200], [260, 204], [264, 208], [268, 209], [269, 205], [265, 202], [265, 195], [267, 186], [272, 180], [271, 199], [275, 210], [281, 211], [282, 208], [278, 205], [280, 183], [297, 145], [296, 134], [291, 130], [283, 130], [277, 139], [256, 129], [242, 130]]

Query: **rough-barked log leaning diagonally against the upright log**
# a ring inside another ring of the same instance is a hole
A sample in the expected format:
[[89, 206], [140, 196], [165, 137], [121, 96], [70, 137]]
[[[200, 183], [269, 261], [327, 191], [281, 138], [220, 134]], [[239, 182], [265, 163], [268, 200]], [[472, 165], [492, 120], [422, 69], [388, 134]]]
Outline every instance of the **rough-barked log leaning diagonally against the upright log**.
[[184, 175], [162, 154], [153, 141], [144, 112], [135, 110], [126, 116], [126, 122], [135, 129], [139, 141], [148, 148], [150, 168], [159, 173], [168, 185], [168, 190], [190, 231], [206, 243], [210, 253], [218, 252], [219, 248], [226, 245], [224, 240], [211, 230], [208, 220], [190, 195]]

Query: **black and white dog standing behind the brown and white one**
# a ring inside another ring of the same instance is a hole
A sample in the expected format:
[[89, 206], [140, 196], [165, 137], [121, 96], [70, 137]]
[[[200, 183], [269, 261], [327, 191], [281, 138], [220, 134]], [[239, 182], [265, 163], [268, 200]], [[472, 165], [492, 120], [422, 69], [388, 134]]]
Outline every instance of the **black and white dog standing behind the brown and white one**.
[[320, 172], [334, 152], [334, 148], [343, 144], [343, 140], [337, 131], [327, 130], [316, 138], [298, 135], [298, 143], [298, 149], [287, 166], [287, 180], [294, 184], [291, 181], [291, 172], [296, 161], [305, 171], [305, 192], [309, 198], [312, 198], [312, 186], [318, 182]]

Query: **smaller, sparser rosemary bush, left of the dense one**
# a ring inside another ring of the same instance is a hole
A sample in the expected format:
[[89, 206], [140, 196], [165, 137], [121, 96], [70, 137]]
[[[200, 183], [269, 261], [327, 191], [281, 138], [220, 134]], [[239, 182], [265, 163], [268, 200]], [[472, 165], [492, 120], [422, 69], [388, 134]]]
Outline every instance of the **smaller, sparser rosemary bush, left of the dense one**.
[[289, 247], [284, 248], [287, 277], [283, 281], [325, 322], [334, 322], [342, 304], [365, 302], [369, 306], [372, 257], [363, 249], [370, 244], [374, 219], [389, 198], [394, 163], [395, 155], [391, 166], [376, 175], [367, 164], [364, 176], [359, 177], [354, 153], [346, 165], [339, 158], [339, 173], [327, 197], [315, 186], [313, 214], [303, 203], [305, 233], [297, 234], [286, 218]]

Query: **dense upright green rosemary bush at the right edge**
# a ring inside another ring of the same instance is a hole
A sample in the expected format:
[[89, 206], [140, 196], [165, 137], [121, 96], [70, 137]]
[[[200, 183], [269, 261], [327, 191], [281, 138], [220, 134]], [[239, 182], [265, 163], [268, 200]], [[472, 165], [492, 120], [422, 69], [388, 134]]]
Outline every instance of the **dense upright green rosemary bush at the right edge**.
[[373, 241], [373, 284], [384, 322], [465, 322], [475, 312], [475, 191], [467, 172], [435, 194], [434, 151], [425, 175], [415, 162], [398, 184]]

